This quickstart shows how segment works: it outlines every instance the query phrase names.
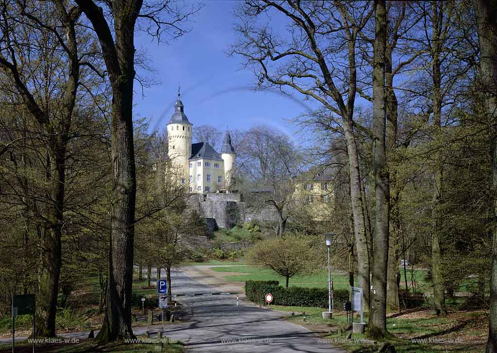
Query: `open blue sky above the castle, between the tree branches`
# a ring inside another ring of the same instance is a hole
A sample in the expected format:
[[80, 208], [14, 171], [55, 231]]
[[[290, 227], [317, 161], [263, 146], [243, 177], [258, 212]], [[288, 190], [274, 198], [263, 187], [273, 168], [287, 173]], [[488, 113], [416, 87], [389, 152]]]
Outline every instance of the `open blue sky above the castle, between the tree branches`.
[[253, 73], [242, 68], [242, 57], [227, 54], [237, 38], [233, 15], [237, 2], [203, 3], [189, 24], [191, 32], [173, 42], [157, 45], [146, 33], [137, 33], [135, 45], [147, 52], [155, 70], [153, 77], [161, 83], [145, 88], [144, 96], [135, 83], [136, 115], [151, 118], [151, 130], [165, 130], [179, 84], [193, 129], [209, 124], [221, 131], [248, 130], [262, 124], [293, 136], [297, 129], [286, 119], [308, 111], [309, 101], [301, 95], [284, 96], [277, 90], [252, 91], [250, 87], [256, 83]]

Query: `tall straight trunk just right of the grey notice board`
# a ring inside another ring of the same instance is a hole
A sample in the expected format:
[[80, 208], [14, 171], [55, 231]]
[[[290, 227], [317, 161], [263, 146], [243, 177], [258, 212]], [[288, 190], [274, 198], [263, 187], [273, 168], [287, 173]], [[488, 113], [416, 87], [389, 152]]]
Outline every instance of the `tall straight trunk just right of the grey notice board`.
[[384, 0], [375, 0], [373, 57], [373, 166], [375, 178], [375, 230], [373, 278], [368, 335], [381, 339], [387, 334], [387, 264], [389, 240], [390, 185], [386, 158], [385, 51], [387, 11]]

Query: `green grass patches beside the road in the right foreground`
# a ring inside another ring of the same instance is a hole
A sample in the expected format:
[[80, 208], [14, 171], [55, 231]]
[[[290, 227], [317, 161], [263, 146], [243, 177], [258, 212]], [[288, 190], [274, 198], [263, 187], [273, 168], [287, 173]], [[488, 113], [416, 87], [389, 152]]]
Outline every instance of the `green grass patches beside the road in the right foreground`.
[[[313, 307], [296, 307], [296, 306], [280, 306], [280, 305], [269, 305], [268, 308], [274, 310], [281, 310], [286, 312], [294, 312], [295, 316], [289, 316], [286, 320], [293, 322], [295, 324], [304, 326], [334, 326], [334, 327], [346, 327], [348, 326], [346, 315], [335, 314], [333, 319], [324, 320], [322, 316], [322, 311], [325, 309], [313, 308]], [[305, 314], [303, 314], [305, 312]], [[304, 316], [306, 321], [304, 322]], [[470, 315], [471, 316], [471, 315]], [[354, 316], [354, 321], [358, 321], [357, 316]], [[367, 316], [364, 317], [364, 321], [367, 322]], [[457, 324], [455, 321], [451, 321], [448, 318], [419, 318], [419, 319], [406, 319], [406, 318], [388, 318], [387, 319], [387, 329], [388, 331], [396, 336], [394, 339], [390, 340], [398, 353], [478, 353], [484, 352], [483, 349], [476, 349], [471, 343], [457, 345], [451, 344], [424, 344], [415, 343], [411, 341], [411, 338], [423, 337], [425, 335], [431, 335], [433, 338], [445, 338], [446, 336], [441, 336], [444, 331], [448, 330], [451, 326]], [[456, 333], [459, 334], [474, 334], [478, 333], [470, 329], [461, 329], [461, 331]], [[452, 336], [451, 336], [452, 337]], [[457, 336], [456, 336], [457, 337]], [[325, 339], [330, 340], [332, 345], [337, 345], [335, 339], [338, 342], [344, 342], [345, 335], [327, 335]], [[342, 348], [346, 349], [348, 352], [377, 352], [377, 347], [372, 348], [367, 344], [360, 344], [354, 340], [364, 339], [365, 336], [361, 334], [352, 334], [352, 341], [347, 344], [342, 344]], [[404, 339], [405, 338], [405, 339]]]

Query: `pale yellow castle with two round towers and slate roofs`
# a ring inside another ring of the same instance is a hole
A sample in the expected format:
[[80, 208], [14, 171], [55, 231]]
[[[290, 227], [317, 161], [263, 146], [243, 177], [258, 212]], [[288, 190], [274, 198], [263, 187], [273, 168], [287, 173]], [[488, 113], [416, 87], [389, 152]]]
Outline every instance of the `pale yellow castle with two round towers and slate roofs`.
[[184, 113], [180, 100], [174, 104], [174, 114], [167, 124], [168, 156], [181, 185], [188, 181], [189, 192], [205, 194], [227, 189], [231, 184], [236, 152], [227, 132], [219, 154], [209, 143], [191, 143], [193, 124]]

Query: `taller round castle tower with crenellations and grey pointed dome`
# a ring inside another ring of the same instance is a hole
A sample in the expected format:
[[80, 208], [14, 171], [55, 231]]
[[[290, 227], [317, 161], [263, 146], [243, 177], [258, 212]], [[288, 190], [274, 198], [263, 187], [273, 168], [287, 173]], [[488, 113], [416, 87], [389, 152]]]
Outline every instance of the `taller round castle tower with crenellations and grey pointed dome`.
[[184, 113], [184, 106], [179, 99], [174, 104], [174, 114], [167, 124], [167, 140], [169, 159], [174, 167], [174, 173], [180, 184], [188, 181], [188, 159], [191, 155], [191, 137], [193, 125]]

